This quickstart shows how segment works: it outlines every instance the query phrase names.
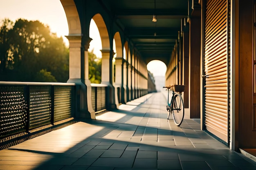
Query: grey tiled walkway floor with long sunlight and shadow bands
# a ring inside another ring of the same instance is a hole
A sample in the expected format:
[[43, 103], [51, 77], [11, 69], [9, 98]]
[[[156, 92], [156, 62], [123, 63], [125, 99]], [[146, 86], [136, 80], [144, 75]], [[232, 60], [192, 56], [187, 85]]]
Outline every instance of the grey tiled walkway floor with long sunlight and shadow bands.
[[256, 170], [197, 120], [167, 121], [162, 93], [0, 150], [0, 170]]

